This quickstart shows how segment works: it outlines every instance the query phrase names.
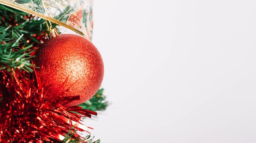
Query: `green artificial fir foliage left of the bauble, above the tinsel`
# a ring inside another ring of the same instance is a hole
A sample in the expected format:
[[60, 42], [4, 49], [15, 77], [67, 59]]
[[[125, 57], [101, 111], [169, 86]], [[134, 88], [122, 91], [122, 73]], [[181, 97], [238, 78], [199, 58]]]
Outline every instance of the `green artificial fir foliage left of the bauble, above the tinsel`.
[[0, 4], [0, 69], [33, 72], [31, 54], [46, 40], [46, 29], [45, 20]]

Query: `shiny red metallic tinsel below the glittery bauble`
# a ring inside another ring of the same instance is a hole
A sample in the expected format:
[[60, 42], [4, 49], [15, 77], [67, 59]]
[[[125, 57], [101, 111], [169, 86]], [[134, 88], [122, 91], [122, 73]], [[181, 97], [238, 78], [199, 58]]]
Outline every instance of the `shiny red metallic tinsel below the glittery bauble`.
[[[45, 96], [52, 100], [46, 100]], [[53, 95], [40, 91], [31, 73], [1, 70], [0, 142], [56, 143], [61, 141], [60, 136], [65, 137], [70, 130], [86, 131], [86, 126], [80, 123], [81, 117], [97, 113], [79, 106], [58, 104], [63, 100], [74, 99], [54, 99]], [[83, 139], [77, 133], [72, 137], [79, 141]]]

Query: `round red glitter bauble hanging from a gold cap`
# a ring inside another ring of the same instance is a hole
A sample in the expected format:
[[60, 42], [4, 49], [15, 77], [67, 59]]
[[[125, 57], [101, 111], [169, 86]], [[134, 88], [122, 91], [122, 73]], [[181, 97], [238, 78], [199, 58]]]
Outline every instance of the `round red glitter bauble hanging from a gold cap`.
[[89, 100], [101, 85], [104, 73], [101, 54], [81, 36], [63, 34], [53, 37], [43, 43], [35, 55], [47, 93], [56, 98], [80, 96], [80, 100], [71, 101], [67, 106]]

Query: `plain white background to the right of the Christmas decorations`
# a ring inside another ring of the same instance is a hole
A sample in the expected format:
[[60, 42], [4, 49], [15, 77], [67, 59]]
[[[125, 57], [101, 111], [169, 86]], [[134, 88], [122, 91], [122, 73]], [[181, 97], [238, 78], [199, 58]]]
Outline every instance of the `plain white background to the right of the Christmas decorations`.
[[255, 143], [255, 0], [94, 0], [101, 143]]

